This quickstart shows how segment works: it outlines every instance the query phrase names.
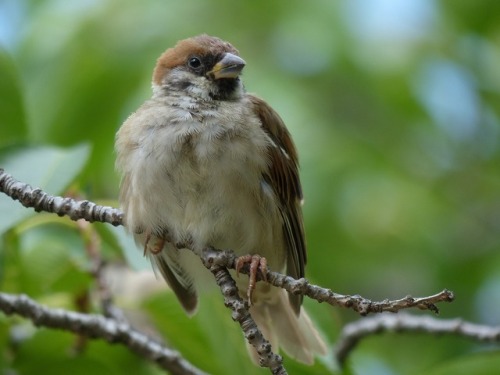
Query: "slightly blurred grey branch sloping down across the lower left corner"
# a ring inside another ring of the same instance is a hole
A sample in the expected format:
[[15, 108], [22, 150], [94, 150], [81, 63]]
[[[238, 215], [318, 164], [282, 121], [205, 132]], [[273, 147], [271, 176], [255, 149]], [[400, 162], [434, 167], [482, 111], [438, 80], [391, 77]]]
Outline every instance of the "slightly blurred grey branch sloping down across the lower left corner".
[[63, 329], [89, 338], [121, 343], [131, 351], [155, 362], [161, 368], [177, 375], [205, 374], [186, 361], [175, 350], [167, 349], [134, 330], [129, 324], [118, 323], [101, 315], [81, 314], [42, 306], [25, 295], [0, 293], [0, 310], [8, 315], [18, 314], [37, 326]]

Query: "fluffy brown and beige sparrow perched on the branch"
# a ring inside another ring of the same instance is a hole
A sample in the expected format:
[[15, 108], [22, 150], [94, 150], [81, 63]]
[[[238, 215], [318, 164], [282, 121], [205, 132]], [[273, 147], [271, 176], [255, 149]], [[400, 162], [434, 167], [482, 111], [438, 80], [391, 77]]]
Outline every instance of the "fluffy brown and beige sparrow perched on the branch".
[[251, 265], [236, 282], [264, 337], [312, 364], [326, 346], [302, 296], [255, 282], [267, 267], [304, 277], [307, 254], [296, 148], [280, 116], [245, 91], [244, 66], [205, 34], [158, 58], [152, 98], [116, 135], [124, 223], [190, 315], [200, 288], [215, 285], [195, 253], [232, 249], [237, 269]]

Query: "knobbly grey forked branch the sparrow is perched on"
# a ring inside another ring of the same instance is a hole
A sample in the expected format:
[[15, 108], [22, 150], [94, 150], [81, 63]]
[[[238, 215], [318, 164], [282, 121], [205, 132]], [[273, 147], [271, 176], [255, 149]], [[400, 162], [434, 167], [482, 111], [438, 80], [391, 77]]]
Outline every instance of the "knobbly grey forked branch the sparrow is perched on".
[[[68, 216], [72, 220], [84, 219], [89, 222], [99, 221], [109, 223], [114, 226], [123, 225], [123, 213], [116, 208], [99, 206], [89, 201], [76, 201], [71, 198], [54, 197], [44, 193], [41, 189], [33, 189], [28, 184], [16, 181], [12, 176], [0, 169], [0, 191], [10, 196], [14, 200], [19, 200], [25, 207], [34, 208], [35, 211], [47, 211]], [[248, 340], [255, 347], [260, 356], [260, 363], [264, 367], [269, 367], [274, 374], [286, 374], [282, 364], [281, 356], [271, 351], [271, 345], [262, 336], [257, 325], [253, 321], [248, 305], [239, 297], [238, 289], [228, 269], [235, 269], [236, 256], [231, 250], [219, 250], [207, 248], [200, 255], [205, 266], [214, 275], [222, 294], [225, 304], [233, 313], [236, 320]], [[248, 274], [247, 266], [240, 270], [241, 273]], [[398, 300], [384, 300], [374, 302], [359, 295], [342, 295], [332, 292], [330, 289], [322, 288], [310, 284], [306, 279], [294, 278], [282, 275], [277, 272], [267, 272], [267, 281], [279, 288], [284, 288], [293, 294], [303, 294], [317, 300], [327, 302], [333, 306], [341, 306], [352, 309], [361, 315], [369, 313], [380, 313], [384, 311], [398, 312], [402, 309], [416, 307], [421, 310], [431, 310], [438, 313], [436, 307], [438, 302], [451, 302], [453, 293], [443, 290], [440, 293], [429, 297], [413, 298], [407, 296]], [[116, 322], [114, 324], [117, 324]]]

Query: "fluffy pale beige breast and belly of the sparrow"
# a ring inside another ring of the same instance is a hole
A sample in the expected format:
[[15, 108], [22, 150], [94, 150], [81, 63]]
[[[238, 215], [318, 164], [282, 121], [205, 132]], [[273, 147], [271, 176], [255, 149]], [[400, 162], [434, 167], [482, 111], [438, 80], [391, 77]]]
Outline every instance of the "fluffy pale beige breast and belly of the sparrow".
[[281, 217], [262, 180], [270, 141], [247, 108], [146, 103], [124, 124], [120, 132], [136, 142], [125, 152], [118, 135], [117, 164], [127, 184], [121, 200], [131, 230], [167, 229], [174, 241], [190, 238], [241, 254], [281, 248]]

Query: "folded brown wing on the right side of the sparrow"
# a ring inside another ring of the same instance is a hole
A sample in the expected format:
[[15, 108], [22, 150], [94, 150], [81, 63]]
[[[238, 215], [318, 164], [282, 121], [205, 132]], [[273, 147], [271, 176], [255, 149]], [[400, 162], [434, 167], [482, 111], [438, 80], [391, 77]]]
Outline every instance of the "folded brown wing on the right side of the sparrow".
[[[304, 227], [302, 221], [302, 188], [300, 186], [298, 157], [295, 145], [283, 120], [262, 99], [249, 95], [262, 127], [272, 140], [269, 147], [271, 164], [264, 176], [271, 182], [279, 198], [283, 217], [283, 233], [287, 246], [287, 274], [294, 278], [304, 277], [307, 261]], [[298, 314], [302, 296], [289, 294], [290, 304]]]

